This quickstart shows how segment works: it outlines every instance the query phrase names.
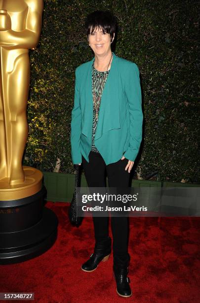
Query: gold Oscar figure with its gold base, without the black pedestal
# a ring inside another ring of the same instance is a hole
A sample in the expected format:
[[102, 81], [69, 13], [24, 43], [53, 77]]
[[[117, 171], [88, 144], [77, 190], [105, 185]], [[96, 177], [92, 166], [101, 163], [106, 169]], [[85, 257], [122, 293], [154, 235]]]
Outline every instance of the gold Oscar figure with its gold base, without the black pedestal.
[[43, 0], [0, 0], [0, 200], [37, 193], [42, 173], [22, 166], [28, 137], [29, 49], [38, 45]]

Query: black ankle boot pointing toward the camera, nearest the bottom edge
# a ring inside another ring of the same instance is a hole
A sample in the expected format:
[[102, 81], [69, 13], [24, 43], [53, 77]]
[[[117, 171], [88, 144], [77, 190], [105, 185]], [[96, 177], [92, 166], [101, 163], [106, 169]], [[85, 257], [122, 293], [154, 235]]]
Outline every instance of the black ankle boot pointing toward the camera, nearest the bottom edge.
[[132, 295], [129, 283], [130, 280], [127, 277], [128, 264], [130, 261], [130, 255], [127, 255], [126, 260], [121, 260], [118, 256], [114, 256], [114, 277], [117, 283], [117, 293], [120, 297], [130, 297]]

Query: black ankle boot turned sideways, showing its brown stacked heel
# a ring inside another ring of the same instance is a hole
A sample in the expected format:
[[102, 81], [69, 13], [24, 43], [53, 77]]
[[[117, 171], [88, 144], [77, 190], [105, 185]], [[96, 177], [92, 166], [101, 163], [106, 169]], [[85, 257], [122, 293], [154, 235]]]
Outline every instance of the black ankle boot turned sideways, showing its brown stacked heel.
[[94, 253], [82, 264], [81, 269], [84, 271], [93, 271], [97, 268], [99, 262], [107, 261], [111, 254], [111, 238], [95, 243]]

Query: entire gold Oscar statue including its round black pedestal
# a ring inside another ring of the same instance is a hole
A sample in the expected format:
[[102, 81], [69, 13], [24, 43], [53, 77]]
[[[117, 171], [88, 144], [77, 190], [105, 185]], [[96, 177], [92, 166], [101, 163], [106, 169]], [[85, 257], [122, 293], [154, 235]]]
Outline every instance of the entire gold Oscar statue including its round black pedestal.
[[28, 136], [29, 49], [40, 38], [43, 0], [0, 0], [0, 264], [29, 260], [56, 241], [40, 170], [22, 166]]

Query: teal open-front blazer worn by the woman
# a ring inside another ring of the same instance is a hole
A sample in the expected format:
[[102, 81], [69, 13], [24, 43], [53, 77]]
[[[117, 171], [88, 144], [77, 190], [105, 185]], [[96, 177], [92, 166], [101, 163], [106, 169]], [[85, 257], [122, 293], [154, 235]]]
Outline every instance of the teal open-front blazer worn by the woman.
[[[85, 62], [75, 71], [75, 97], [71, 121], [73, 164], [89, 162], [92, 145], [93, 98], [92, 63]], [[142, 98], [139, 69], [134, 62], [118, 57], [108, 74], [99, 108], [94, 144], [106, 165], [125, 158], [134, 161], [142, 140]]]

